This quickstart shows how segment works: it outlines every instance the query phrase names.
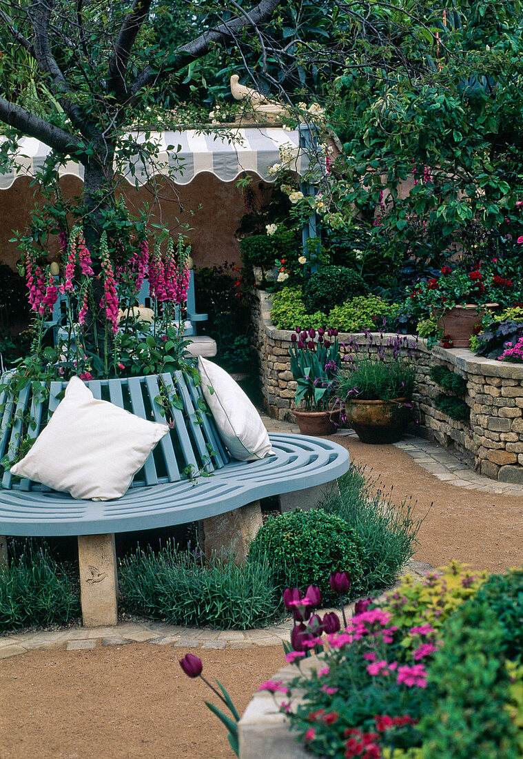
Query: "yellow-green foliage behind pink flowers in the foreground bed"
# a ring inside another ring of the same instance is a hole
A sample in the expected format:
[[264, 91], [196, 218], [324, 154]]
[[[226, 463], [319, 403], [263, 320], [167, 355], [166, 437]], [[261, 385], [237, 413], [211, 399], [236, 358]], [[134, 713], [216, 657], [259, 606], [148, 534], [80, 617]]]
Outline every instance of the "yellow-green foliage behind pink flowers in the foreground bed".
[[[406, 575], [396, 591], [387, 595], [384, 606], [392, 613], [393, 624], [405, 631], [427, 623], [440, 631], [443, 622], [474, 596], [486, 576], [486, 572], [470, 572], [458, 562], [427, 572], [421, 582]], [[403, 644], [408, 640], [406, 635]]]

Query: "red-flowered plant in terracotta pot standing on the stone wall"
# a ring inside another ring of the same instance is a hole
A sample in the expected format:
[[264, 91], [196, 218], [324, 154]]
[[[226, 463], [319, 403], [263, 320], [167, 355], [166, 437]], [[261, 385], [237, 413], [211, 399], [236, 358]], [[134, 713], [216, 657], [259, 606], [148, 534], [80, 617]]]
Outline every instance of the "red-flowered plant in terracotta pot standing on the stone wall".
[[408, 302], [418, 313], [429, 314], [437, 321], [443, 335], [440, 345], [468, 348], [474, 327], [481, 323], [485, 308], [496, 307], [493, 290], [501, 279], [481, 267], [466, 272], [442, 266], [440, 276], [417, 282], [408, 294]]

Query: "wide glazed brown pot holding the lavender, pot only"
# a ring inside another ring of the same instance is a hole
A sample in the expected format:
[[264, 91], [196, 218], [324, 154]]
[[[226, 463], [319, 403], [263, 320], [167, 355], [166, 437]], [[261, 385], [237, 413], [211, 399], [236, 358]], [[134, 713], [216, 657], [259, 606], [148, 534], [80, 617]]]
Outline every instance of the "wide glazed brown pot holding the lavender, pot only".
[[408, 398], [391, 401], [364, 401], [351, 398], [346, 403], [347, 423], [362, 442], [384, 445], [402, 439], [412, 416]]

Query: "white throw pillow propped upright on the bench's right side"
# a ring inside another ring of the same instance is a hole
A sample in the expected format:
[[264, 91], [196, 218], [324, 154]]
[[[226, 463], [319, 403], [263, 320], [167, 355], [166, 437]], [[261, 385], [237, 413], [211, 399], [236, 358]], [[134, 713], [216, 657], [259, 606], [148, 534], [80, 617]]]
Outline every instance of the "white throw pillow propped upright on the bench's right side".
[[230, 455], [239, 461], [255, 461], [272, 453], [260, 415], [240, 386], [224, 369], [202, 356], [198, 357], [198, 368], [203, 395]]

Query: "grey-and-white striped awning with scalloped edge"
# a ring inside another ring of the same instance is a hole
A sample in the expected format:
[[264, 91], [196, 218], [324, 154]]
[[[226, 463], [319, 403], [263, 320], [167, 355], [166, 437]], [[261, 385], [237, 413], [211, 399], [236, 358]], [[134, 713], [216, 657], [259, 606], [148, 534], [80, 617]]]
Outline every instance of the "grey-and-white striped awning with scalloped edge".
[[[134, 134], [136, 143], [145, 142], [143, 134]], [[0, 137], [0, 145], [5, 137]], [[280, 127], [229, 128], [215, 134], [194, 129], [152, 132], [149, 140], [158, 145], [154, 162], [140, 156], [130, 160], [124, 173], [130, 184], [146, 184], [155, 174], [168, 175], [176, 184], [188, 184], [197, 174], [211, 172], [223, 181], [232, 181], [243, 172], [254, 172], [271, 181], [268, 169], [280, 162], [280, 149], [292, 156], [290, 168], [302, 175], [308, 168], [308, 156], [299, 148], [299, 132]], [[22, 137], [14, 164], [0, 174], [0, 190], [7, 190], [20, 176], [34, 176], [42, 168], [51, 148], [33, 137]], [[83, 166], [67, 161], [59, 175], [74, 175], [83, 180]]]

